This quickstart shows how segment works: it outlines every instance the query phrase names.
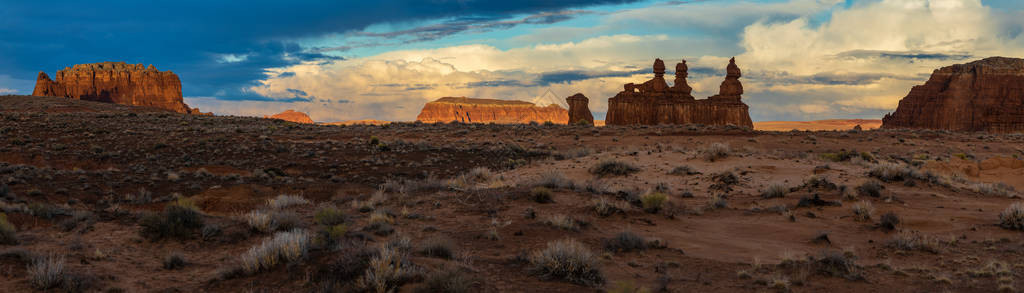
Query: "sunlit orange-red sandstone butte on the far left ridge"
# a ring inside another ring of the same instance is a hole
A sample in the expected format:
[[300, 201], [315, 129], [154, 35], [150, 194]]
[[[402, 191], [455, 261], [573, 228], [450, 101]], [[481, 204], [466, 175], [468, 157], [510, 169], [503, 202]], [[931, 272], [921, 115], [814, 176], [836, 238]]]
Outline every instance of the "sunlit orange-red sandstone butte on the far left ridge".
[[[56, 81], [39, 72], [32, 95], [152, 107], [183, 114], [204, 114], [181, 98], [181, 81], [172, 72], [150, 65], [98, 62], [75, 65], [56, 73]], [[207, 114], [208, 115], [208, 114]]]

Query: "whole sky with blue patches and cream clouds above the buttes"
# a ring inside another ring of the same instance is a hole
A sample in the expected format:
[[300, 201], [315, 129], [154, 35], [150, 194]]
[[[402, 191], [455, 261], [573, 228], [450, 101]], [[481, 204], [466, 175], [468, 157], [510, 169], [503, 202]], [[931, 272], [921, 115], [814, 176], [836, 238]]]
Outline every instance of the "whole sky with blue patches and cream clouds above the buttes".
[[[443, 96], [590, 97], [686, 59], [693, 95], [730, 57], [754, 121], [880, 119], [935, 69], [1024, 57], [1020, 0], [0, 0], [0, 94], [40, 71], [127, 61], [176, 73], [217, 115], [413, 121]], [[670, 78], [671, 80], [671, 78]], [[671, 81], [670, 81], [671, 84]]]

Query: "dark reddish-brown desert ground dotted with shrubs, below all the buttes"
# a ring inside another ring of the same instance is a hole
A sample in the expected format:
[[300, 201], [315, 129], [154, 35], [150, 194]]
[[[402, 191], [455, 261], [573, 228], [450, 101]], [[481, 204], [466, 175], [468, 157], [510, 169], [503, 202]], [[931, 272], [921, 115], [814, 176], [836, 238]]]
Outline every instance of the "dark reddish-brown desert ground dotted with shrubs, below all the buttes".
[[1017, 292], [1024, 135], [0, 96], [6, 292]]

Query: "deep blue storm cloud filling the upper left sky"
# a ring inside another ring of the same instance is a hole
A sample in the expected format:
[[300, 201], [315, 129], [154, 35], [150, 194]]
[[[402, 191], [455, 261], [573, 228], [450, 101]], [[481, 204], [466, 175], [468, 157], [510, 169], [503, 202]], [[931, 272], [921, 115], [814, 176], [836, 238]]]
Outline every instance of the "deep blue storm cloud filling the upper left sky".
[[[174, 71], [186, 96], [244, 96], [238, 89], [267, 68], [342, 59], [290, 40], [432, 19], [490, 19], [499, 29], [517, 15], [542, 15], [526, 22], [543, 24], [559, 20], [545, 11], [625, 2], [632, 0], [4, 1], [0, 75], [34, 80], [39, 71], [123, 60]], [[225, 61], [225, 54], [247, 57]]]

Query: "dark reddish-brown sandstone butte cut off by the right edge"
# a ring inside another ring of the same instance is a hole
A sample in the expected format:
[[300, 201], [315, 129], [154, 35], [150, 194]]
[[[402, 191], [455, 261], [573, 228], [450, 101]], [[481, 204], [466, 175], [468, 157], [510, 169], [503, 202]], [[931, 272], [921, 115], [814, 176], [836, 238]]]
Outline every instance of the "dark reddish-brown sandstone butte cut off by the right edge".
[[1024, 131], [1024, 59], [988, 57], [936, 70], [882, 119], [882, 128]]

